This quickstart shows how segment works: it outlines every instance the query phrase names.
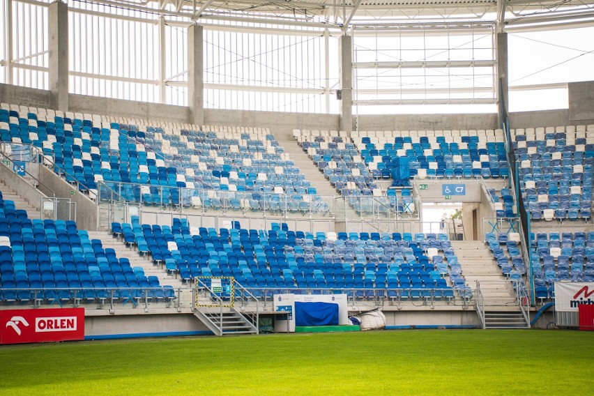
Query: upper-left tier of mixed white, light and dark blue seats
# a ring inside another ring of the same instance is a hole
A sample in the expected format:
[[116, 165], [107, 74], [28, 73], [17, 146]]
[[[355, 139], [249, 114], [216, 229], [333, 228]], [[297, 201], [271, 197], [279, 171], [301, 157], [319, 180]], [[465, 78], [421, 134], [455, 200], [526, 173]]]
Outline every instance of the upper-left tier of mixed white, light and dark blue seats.
[[[0, 108], [2, 142], [40, 148], [52, 158], [56, 172], [81, 183], [79, 188], [89, 189], [93, 197], [99, 182], [109, 183], [130, 201], [164, 206], [190, 204], [185, 196], [201, 197], [206, 190], [215, 195], [219, 190], [290, 194], [301, 200], [316, 194], [267, 130], [202, 132], [190, 125], [173, 130], [155, 125], [6, 104]], [[141, 185], [146, 186], [142, 192]], [[213, 206], [204, 207], [217, 209], [216, 199], [224, 197], [214, 198]], [[319, 211], [328, 211], [319, 206]]]

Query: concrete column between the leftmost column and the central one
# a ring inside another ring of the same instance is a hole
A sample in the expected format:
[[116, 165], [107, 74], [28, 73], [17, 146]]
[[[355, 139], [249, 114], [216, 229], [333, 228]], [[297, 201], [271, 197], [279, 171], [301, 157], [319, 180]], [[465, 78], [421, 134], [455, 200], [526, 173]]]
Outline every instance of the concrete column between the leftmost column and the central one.
[[188, 107], [190, 123], [204, 123], [204, 63], [202, 55], [203, 28], [192, 24], [188, 28]]

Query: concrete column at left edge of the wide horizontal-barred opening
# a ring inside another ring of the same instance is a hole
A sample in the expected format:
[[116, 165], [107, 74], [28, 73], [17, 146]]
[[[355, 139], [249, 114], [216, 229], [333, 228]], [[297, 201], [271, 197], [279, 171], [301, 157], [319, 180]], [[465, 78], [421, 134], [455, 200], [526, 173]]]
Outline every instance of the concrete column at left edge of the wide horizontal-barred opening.
[[353, 38], [351, 36], [340, 36], [340, 91], [342, 101], [340, 102], [340, 130], [352, 132], [353, 130]]

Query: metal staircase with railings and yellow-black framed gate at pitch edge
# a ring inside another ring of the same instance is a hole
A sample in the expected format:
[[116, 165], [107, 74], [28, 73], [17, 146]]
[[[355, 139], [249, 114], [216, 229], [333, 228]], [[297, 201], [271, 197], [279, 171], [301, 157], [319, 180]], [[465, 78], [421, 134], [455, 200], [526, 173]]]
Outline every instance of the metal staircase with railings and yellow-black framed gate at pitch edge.
[[215, 335], [258, 334], [258, 299], [233, 277], [199, 277], [195, 287], [194, 315]]

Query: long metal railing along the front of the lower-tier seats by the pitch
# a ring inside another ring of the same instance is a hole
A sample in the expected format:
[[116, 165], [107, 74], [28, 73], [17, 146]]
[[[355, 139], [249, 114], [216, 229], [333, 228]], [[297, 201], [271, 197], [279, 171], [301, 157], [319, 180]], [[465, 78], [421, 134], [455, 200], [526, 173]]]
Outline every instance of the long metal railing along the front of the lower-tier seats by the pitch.
[[[243, 287], [234, 282], [234, 292], [227, 298], [219, 294], [202, 280], [195, 280], [195, 287], [178, 287], [165, 291], [161, 287], [51, 287], [22, 288], [3, 287], [0, 305], [10, 307], [14, 303], [21, 306], [29, 303], [33, 309], [59, 305], [79, 307], [92, 306], [96, 310], [118, 310], [142, 308], [144, 312], [151, 310], [192, 310], [200, 308], [222, 316], [224, 309], [236, 309], [257, 327], [259, 313], [273, 307], [275, 294], [347, 294], [349, 305], [355, 309], [361, 306], [395, 307], [429, 307], [443, 304], [462, 307], [467, 310], [478, 296], [470, 288], [467, 289], [358, 289], [358, 288], [297, 288], [297, 287]], [[173, 295], [171, 294], [173, 292]]]

